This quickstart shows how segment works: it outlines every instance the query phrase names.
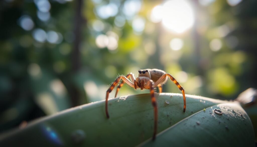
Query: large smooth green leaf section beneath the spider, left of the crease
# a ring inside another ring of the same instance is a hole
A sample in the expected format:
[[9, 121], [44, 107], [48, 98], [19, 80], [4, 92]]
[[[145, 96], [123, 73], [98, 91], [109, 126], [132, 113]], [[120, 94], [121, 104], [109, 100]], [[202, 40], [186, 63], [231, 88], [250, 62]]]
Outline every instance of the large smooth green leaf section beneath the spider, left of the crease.
[[[181, 94], [155, 93], [158, 106], [158, 133], [194, 113], [227, 101], [186, 95], [187, 108], [183, 113]], [[170, 104], [166, 104], [165, 101]], [[153, 108], [150, 94], [138, 94], [110, 99], [105, 116], [105, 101], [94, 102], [45, 117], [30, 123], [23, 129], [5, 134], [2, 145], [72, 146], [72, 134], [82, 131], [86, 135], [83, 146], [135, 146], [150, 139], [153, 133]], [[52, 134], [52, 136], [51, 136]]]

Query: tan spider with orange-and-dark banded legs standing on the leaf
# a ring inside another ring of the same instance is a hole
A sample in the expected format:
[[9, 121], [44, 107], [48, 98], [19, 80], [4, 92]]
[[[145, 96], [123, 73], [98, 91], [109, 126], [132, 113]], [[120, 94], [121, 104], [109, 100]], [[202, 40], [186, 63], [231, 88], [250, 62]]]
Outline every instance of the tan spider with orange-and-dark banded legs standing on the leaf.
[[[169, 73], [166, 73], [162, 70], [158, 70], [158, 69], [145, 69], [145, 70], [139, 70], [138, 71], [138, 77], [135, 79], [135, 76], [133, 73], [129, 73], [125, 76], [118, 76], [115, 81], [112, 83], [112, 85], [110, 86], [110, 88], [106, 91], [106, 99], [105, 99], [105, 113], [107, 118], [109, 118], [109, 114], [108, 114], [108, 108], [107, 108], [107, 103], [108, 103], [108, 96], [109, 93], [112, 92], [113, 88], [119, 83], [120, 79], [122, 79], [123, 81], [120, 83], [120, 85], [117, 87], [116, 93], [115, 93], [115, 97], [117, 96], [117, 93], [119, 91], [119, 89], [122, 87], [122, 85], [124, 84], [124, 82], [126, 82], [128, 85], [130, 85], [131, 87], [137, 89], [140, 88], [141, 90], [143, 89], [149, 89], [150, 90], [150, 94], [151, 94], [151, 101], [152, 101], [152, 105], [153, 105], [153, 111], [154, 111], [154, 131], [153, 131], [153, 140], [155, 139], [156, 136], [156, 132], [157, 132], [157, 104], [156, 104], [156, 100], [154, 97], [154, 88], [158, 87], [159, 92], [162, 92], [162, 85], [164, 83], [166, 83], [166, 81], [168, 80], [168, 77], [170, 78], [170, 80], [172, 82], [174, 82], [177, 87], [179, 88], [179, 90], [181, 90], [182, 95], [183, 95], [183, 101], [184, 101], [184, 109], [183, 112], [186, 111], [186, 97], [185, 97], [185, 91], [182, 88], [182, 86], [178, 83], [178, 81]], [[131, 81], [133, 81], [134, 83], [132, 83], [130, 80], [128, 80], [128, 78], [130, 77]]]

